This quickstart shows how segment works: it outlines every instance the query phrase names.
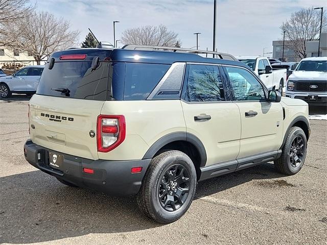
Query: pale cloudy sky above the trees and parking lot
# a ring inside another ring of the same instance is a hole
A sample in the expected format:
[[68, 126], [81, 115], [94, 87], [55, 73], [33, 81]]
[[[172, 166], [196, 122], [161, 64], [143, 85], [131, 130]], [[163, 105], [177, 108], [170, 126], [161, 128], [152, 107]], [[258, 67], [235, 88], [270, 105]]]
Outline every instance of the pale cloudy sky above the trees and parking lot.
[[[39, 10], [71, 21], [81, 32], [82, 42], [90, 28], [100, 41], [113, 43], [128, 28], [165, 24], [179, 34], [182, 47], [212, 48], [214, 0], [38, 0]], [[325, 0], [218, 0], [217, 46], [232, 55], [262, 55], [272, 52], [272, 41], [282, 38], [279, 27], [292, 12], [307, 7], [324, 7]], [[320, 11], [320, 10], [319, 10]], [[118, 44], [122, 46], [122, 44]], [[269, 54], [266, 54], [269, 56]]]

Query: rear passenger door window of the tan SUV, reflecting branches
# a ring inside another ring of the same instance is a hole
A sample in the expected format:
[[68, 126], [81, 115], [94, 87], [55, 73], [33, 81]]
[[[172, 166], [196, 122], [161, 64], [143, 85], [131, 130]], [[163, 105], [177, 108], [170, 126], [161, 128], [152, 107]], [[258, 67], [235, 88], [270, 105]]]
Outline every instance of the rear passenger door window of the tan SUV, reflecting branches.
[[224, 101], [224, 90], [216, 65], [189, 66], [187, 100], [190, 102]]

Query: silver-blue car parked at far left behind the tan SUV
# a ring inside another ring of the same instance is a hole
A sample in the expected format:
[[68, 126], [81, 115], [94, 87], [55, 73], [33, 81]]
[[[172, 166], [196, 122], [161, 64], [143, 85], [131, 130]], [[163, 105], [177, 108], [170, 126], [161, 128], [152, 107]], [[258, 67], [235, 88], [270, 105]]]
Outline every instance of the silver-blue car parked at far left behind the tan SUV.
[[0, 78], [0, 97], [7, 98], [12, 93], [35, 93], [43, 68], [44, 65], [29, 65], [12, 76]]

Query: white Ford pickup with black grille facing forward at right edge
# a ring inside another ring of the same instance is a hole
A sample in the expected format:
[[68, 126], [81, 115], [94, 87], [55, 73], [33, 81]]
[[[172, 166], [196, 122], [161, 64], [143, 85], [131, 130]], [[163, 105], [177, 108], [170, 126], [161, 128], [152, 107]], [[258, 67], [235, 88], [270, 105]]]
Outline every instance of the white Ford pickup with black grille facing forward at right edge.
[[327, 106], [327, 57], [302, 59], [288, 78], [286, 96]]

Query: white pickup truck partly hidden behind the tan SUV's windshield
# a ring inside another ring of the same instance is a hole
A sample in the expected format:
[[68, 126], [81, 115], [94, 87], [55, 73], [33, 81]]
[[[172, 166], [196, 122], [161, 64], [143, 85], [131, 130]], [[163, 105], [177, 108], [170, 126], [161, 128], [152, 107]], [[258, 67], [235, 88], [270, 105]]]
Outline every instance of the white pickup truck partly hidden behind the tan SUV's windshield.
[[236, 58], [248, 65], [268, 89], [275, 86], [283, 94], [283, 87], [286, 85], [286, 69], [273, 70], [267, 57], [237, 56]]

